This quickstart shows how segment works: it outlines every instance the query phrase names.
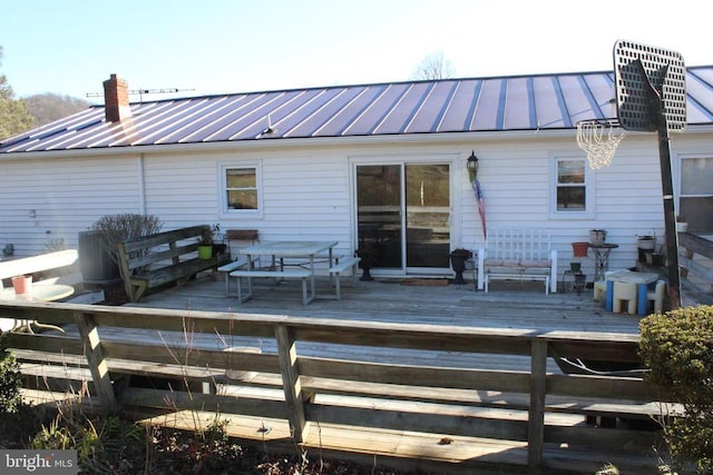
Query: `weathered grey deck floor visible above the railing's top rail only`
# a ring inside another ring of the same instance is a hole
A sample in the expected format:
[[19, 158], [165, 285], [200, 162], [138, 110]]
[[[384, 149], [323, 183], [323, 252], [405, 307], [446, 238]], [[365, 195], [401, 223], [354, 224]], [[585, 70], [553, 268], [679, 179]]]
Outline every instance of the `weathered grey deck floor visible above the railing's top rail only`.
[[[638, 334], [639, 316], [613, 314], [593, 300], [592, 290], [582, 295], [545, 295], [541, 283], [496, 281], [489, 293], [468, 285], [437, 285], [442, 280], [378, 279], [351, 286], [342, 280], [342, 299], [320, 299], [333, 289], [326, 277], [318, 277], [318, 299], [302, 305], [299, 283], [275, 286], [255, 280], [255, 297], [238, 304], [235, 291], [225, 296], [223, 280], [198, 276], [183, 287], [146, 296], [134, 306], [185, 310], [236, 311], [345, 320], [401, 324], [433, 324], [490, 328], [528, 328], [534, 331], [607, 331]], [[411, 284], [411, 285], [409, 285]], [[421, 285], [418, 285], [421, 284]], [[233, 287], [232, 287], [233, 290]]]

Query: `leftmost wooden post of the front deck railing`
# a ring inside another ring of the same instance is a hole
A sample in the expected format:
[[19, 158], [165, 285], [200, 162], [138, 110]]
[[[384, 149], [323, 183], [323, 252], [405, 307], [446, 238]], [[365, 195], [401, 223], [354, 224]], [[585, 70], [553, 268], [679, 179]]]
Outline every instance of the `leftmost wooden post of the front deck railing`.
[[76, 314], [75, 320], [85, 344], [85, 356], [89, 364], [91, 379], [99, 393], [99, 398], [108, 412], [115, 413], [119, 406], [111, 385], [109, 368], [104, 357], [101, 342], [99, 340], [98, 326], [90, 314]]

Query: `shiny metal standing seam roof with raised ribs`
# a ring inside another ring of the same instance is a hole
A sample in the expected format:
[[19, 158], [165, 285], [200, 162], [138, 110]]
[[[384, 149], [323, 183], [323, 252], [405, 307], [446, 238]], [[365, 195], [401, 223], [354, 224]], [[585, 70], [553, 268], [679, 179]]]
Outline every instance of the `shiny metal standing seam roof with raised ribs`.
[[[688, 123], [713, 123], [713, 66], [687, 68]], [[316, 137], [572, 129], [616, 117], [614, 72], [332, 86], [104, 106], [0, 142], [0, 154]], [[270, 128], [270, 131], [265, 132]]]

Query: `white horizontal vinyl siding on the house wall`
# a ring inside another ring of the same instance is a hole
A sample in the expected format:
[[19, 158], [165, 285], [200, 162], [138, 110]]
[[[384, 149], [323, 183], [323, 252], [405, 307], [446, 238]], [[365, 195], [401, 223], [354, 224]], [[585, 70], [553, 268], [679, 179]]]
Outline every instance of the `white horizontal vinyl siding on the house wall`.
[[[553, 212], [555, 159], [586, 160], [575, 133], [486, 137], [477, 144], [466, 137], [392, 137], [340, 144], [295, 141], [279, 147], [266, 142], [223, 149], [167, 147], [143, 156], [116, 150], [95, 157], [85, 150], [78, 156], [3, 157], [0, 248], [13, 244], [16, 256], [22, 257], [46, 251], [50, 239], [64, 238], [68, 247], [76, 247], [78, 232], [101, 216], [147, 212], [157, 216], [167, 230], [219, 224], [223, 231], [258, 229], [261, 240], [336, 240], [335, 253], [351, 254], [356, 247], [355, 157], [378, 162], [450, 155], [452, 245], [478, 249], [485, 238], [466, 170], [475, 145], [488, 227], [548, 229], [561, 269], [573, 258], [572, 243], [588, 240], [589, 229], [606, 229], [607, 243], [619, 245], [611, 254], [611, 268], [629, 268], [637, 257], [636, 236], [655, 234], [661, 239], [664, 234], [657, 141], [652, 135], [628, 135], [609, 167], [596, 171], [586, 167], [587, 212]], [[676, 136], [672, 144], [676, 160], [682, 151], [685, 157], [711, 157], [701, 152], [710, 150], [710, 136]], [[255, 165], [260, 167], [262, 214], [224, 214], [222, 167]], [[590, 277], [593, 259], [582, 264]]]

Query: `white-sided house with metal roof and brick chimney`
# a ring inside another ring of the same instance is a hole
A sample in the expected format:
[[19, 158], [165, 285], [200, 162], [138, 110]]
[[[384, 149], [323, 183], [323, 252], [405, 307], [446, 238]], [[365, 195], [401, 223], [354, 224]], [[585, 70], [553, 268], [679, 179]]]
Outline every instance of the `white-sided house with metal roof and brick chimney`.
[[[687, 69], [687, 118], [672, 136], [676, 206], [713, 231], [713, 66]], [[616, 117], [614, 73], [447, 79], [191, 97], [105, 106], [0, 141], [0, 248], [46, 250], [105, 215], [152, 214], [164, 229], [219, 224], [261, 240], [378, 243], [377, 276], [451, 275], [448, 250], [484, 229], [466, 170], [475, 151], [487, 226], [547, 228], [559, 268], [589, 229], [637, 257], [663, 235], [656, 133], [629, 132], [609, 167], [576, 144], [583, 119]], [[406, 231], [404, 231], [406, 230]], [[583, 270], [592, 271], [592, 259]]]

